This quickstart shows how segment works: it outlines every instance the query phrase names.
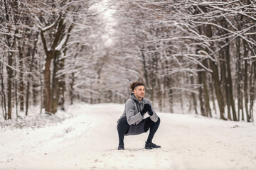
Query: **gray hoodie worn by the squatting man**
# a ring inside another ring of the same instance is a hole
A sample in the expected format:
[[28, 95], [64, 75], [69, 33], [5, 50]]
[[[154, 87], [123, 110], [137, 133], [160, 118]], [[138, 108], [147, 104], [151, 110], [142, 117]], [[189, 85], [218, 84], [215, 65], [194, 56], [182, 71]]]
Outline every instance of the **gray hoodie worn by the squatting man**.
[[142, 98], [141, 101], [139, 101], [134, 93], [131, 94], [130, 98], [125, 103], [124, 113], [122, 114], [121, 118], [127, 118], [127, 123], [129, 125], [137, 125], [139, 124], [143, 118], [144, 115], [142, 115], [140, 112], [144, 108], [144, 104], [148, 103], [153, 111], [153, 115], [150, 116], [150, 119], [154, 122], [157, 121], [158, 116], [156, 115], [156, 112], [154, 111], [153, 106], [151, 105], [150, 101], [146, 98]]

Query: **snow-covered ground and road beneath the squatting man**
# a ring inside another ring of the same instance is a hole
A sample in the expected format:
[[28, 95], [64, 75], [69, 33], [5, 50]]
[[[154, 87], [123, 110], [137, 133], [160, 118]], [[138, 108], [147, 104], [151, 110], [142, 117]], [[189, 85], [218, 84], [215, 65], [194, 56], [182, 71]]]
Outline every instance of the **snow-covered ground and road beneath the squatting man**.
[[154, 137], [161, 149], [146, 150], [148, 133], [124, 138], [117, 150], [116, 121], [124, 105], [76, 104], [45, 127], [0, 130], [0, 169], [256, 169], [252, 123], [158, 113]]

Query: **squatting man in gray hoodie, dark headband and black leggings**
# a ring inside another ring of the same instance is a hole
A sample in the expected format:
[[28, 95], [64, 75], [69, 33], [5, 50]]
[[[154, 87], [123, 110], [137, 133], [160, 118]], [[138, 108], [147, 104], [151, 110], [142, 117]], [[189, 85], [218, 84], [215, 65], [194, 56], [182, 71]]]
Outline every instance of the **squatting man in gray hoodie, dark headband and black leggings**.
[[[117, 121], [117, 131], [119, 136], [119, 150], [124, 150], [124, 135], [139, 135], [147, 132], [149, 137], [146, 140], [145, 148], [153, 149], [161, 146], [152, 143], [156, 130], [159, 128], [160, 118], [154, 112], [150, 101], [144, 98], [145, 87], [141, 82], [132, 83], [133, 93], [125, 103], [124, 113]], [[144, 118], [146, 113], [148, 118]]]

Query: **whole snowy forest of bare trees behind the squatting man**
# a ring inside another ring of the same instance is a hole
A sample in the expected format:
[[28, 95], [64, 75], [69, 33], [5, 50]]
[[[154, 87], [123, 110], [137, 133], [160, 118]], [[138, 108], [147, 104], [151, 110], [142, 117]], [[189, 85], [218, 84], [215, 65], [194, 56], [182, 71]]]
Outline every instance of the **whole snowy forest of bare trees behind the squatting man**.
[[124, 103], [253, 122], [256, 1], [0, 0], [4, 120], [31, 106]]

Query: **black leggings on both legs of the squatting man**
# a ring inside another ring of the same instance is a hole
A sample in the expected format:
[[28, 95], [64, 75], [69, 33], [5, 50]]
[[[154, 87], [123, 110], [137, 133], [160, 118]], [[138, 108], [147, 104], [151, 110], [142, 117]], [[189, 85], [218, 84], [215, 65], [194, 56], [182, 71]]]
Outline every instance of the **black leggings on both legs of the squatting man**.
[[[160, 118], [158, 117], [158, 120], [153, 122], [149, 117], [146, 118], [145, 124], [144, 124], [144, 132], [149, 131], [149, 137], [147, 138], [146, 142], [152, 142], [152, 139], [154, 137], [154, 134], [156, 133], [156, 130], [159, 128], [160, 124]], [[117, 131], [119, 136], [119, 145], [124, 144], [124, 135], [129, 131], [129, 124], [127, 123], [127, 118], [121, 118], [117, 123]]]

